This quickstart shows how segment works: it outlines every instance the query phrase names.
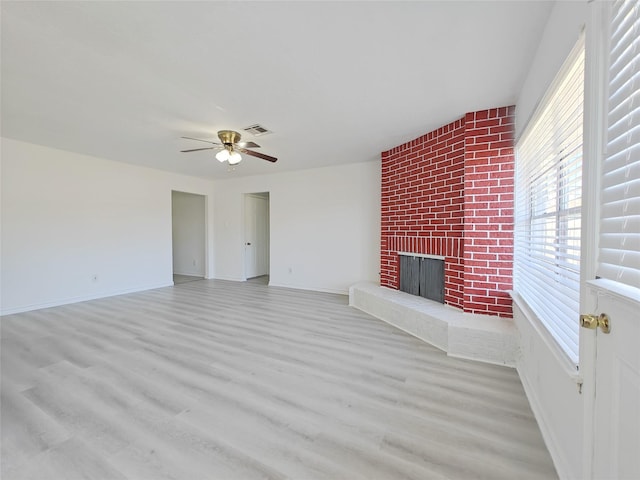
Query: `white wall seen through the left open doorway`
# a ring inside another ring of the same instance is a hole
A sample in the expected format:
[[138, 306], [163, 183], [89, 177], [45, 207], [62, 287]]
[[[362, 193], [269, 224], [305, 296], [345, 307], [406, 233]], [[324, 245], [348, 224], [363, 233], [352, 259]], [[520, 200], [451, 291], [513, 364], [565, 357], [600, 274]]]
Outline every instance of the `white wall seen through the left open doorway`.
[[205, 275], [206, 197], [171, 193], [173, 273]]

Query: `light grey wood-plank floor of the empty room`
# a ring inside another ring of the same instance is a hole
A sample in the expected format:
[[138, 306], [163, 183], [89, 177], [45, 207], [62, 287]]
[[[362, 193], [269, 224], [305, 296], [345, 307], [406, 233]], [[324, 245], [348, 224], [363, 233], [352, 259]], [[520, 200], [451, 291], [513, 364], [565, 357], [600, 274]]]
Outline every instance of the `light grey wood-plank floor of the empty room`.
[[214, 280], [2, 317], [2, 478], [556, 474], [515, 370]]

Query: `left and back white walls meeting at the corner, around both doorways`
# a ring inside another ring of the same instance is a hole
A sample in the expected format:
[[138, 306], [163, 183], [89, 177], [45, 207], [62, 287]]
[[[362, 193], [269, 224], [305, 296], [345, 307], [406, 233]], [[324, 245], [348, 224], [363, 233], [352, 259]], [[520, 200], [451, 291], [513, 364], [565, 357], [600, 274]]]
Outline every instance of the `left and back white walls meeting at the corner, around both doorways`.
[[272, 285], [347, 293], [378, 281], [379, 162], [214, 183], [11, 139], [1, 148], [2, 314], [171, 285], [172, 190], [207, 197], [207, 278], [244, 279], [244, 194], [270, 192]]

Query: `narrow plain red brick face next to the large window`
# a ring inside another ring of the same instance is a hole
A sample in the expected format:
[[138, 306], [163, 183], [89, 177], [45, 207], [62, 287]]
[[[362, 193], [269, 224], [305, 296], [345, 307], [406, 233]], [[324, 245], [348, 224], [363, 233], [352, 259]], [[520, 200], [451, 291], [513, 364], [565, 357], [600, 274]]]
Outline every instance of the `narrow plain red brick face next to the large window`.
[[511, 316], [514, 107], [465, 116], [464, 310]]

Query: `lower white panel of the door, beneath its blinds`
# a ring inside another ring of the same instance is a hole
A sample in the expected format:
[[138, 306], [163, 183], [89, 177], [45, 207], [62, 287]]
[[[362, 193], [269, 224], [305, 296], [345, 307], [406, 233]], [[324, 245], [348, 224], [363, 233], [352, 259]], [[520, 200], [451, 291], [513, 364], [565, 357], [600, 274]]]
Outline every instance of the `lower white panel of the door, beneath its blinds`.
[[[593, 402], [594, 479], [640, 479], [640, 299], [587, 286], [594, 313], [611, 332], [596, 330]], [[586, 378], [585, 378], [586, 379]]]

